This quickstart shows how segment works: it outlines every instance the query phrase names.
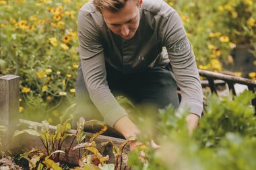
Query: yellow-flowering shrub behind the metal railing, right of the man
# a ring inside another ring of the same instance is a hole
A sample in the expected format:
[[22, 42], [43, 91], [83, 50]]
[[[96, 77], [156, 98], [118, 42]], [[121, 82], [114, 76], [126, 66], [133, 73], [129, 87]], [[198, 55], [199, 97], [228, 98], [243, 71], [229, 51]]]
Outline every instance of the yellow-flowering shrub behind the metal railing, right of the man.
[[219, 60], [233, 62], [229, 53], [236, 45], [251, 43], [256, 46], [256, 5], [253, 0], [167, 2], [183, 19], [199, 69], [221, 71]]

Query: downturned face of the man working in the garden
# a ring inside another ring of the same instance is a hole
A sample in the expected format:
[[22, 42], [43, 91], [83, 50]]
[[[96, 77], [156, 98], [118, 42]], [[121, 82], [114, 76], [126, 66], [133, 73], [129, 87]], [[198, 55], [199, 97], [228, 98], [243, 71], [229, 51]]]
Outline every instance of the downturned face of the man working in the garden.
[[[142, 1], [140, 0], [140, 5], [141, 2]], [[133, 38], [139, 27], [139, 6], [136, 5], [135, 0], [127, 1], [125, 7], [115, 13], [103, 10], [102, 15], [106, 22], [106, 26], [125, 40]]]

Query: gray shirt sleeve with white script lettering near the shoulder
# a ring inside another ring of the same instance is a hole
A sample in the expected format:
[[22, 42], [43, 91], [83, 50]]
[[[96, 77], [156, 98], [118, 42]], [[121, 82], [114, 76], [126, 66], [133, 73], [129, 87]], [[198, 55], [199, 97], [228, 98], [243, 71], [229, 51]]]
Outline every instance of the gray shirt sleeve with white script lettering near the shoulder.
[[203, 93], [195, 55], [177, 11], [166, 19], [162, 29], [162, 41], [168, 51], [177, 85], [181, 89], [180, 108], [187, 105], [191, 113], [201, 116]]

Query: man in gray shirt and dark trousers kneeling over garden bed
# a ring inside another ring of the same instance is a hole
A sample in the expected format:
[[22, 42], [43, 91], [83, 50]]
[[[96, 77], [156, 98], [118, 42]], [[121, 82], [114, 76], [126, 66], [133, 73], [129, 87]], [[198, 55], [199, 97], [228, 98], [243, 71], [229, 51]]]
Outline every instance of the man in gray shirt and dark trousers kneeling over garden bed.
[[[158, 108], [187, 105], [189, 132], [197, 126], [203, 110], [199, 74], [181, 19], [172, 7], [162, 0], [90, 1], [79, 11], [78, 36], [77, 110], [93, 113], [82, 116], [103, 118], [125, 138], [139, 134], [115, 99], [117, 92]], [[93, 106], [83, 106], [91, 101]], [[130, 148], [136, 144], [131, 142]]]

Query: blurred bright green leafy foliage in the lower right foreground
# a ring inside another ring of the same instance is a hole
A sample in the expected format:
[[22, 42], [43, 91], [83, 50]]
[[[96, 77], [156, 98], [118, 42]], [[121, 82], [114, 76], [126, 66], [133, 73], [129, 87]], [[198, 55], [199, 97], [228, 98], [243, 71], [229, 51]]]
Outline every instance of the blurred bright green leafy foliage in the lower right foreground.
[[[255, 94], [207, 99], [205, 115], [192, 136], [185, 116], [170, 107], [162, 110], [158, 124], [161, 148], [130, 153], [134, 169], [256, 169], [256, 117], [251, 106]], [[142, 159], [139, 154], [146, 153]]]

